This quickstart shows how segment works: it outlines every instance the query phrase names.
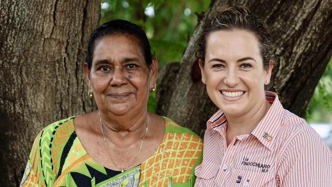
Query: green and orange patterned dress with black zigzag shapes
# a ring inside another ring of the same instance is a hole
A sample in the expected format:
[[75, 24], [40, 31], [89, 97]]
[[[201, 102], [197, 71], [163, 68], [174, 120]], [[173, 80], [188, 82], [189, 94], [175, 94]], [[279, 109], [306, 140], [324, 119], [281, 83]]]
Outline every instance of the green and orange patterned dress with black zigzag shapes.
[[123, 173], [94, 161], [75, 133], [75, 117], [43, 129], [33, 144], [20, 186], [194, 186], [202, 139], [165, 118], [157, 151]]

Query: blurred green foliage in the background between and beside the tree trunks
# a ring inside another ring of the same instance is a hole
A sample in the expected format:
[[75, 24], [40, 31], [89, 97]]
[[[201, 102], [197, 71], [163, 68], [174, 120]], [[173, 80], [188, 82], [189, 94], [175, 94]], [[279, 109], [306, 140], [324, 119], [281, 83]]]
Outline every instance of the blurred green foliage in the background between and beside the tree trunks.
[[[198, 15], [209, 4], [210, 0], [103, 0], [100, 24], [112, 19], [126, 19], [139, 25], [146, 31], [161, 68], [169, 62], [181, 61], [188, 39], [194, 33]], [[148, 109], [156, 110], [153, 93]], [[306, 120], [309, 123], [329, 123], [331, 116], [332, 58], [307, 108]]]

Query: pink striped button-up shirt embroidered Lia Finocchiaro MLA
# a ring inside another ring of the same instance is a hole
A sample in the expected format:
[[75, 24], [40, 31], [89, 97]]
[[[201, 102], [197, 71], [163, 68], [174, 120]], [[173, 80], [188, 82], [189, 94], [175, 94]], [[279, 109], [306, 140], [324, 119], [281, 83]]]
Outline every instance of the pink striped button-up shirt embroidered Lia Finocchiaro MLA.
[[207, 122], [195, 186], [332, 186], [332, 154], [305, 120], [284, 109], [274, 92], [255, 129], [226, 145], [222, 111]]

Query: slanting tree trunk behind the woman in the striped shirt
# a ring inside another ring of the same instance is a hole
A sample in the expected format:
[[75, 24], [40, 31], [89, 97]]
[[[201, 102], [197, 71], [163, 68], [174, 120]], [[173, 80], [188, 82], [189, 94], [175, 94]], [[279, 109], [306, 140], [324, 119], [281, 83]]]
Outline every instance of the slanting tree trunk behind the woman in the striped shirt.
[[[284, 108], [303, 116], [332, 55], [332, 1], [212, 1], [199, 16], [193, 38], [222, 7], [243, 5], [270, 26], [275, 67], [268, 90], [278, 93]], [[197, 45], [189, 40], [181, 64], [166, 66], [156, 94], [157, 113], [203, 135], [206, 121], [217, 111], [201, 83]]]

